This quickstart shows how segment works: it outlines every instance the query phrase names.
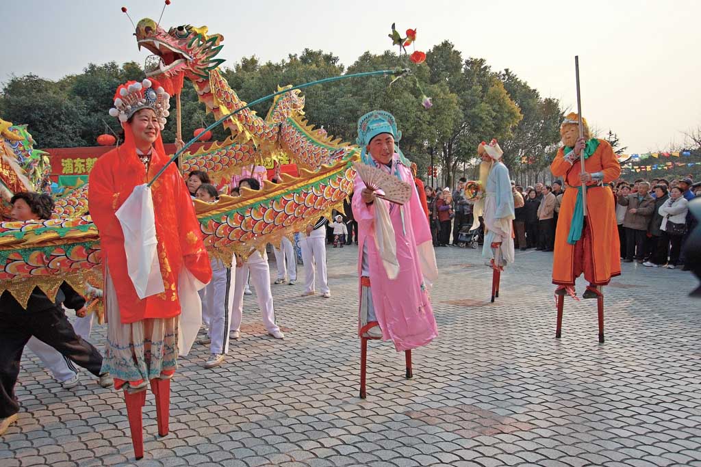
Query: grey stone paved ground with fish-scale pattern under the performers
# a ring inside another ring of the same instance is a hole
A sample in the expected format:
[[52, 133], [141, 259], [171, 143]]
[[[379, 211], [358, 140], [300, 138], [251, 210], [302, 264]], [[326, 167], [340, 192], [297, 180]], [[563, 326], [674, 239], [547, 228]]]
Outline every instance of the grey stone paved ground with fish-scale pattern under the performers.
[[[367, 400], [358, 398], [357, 249], [329, 249], [333, 298], [274, 286], [285, 341], [266, 337], [252, 298], [243, 339], [222, 367], [207, 349], [182, 360], [170, 434], [144, 407], [146, 466], [701, 466], [701, 302], [690, 274], [624, 265], [606, 289], [606, 343], [596, 305], [566, 302], [554, 339], [551, 253], [527, 252], [503, 274], [475, 250], [438, 249], [440, 337], [403, 356], [371, 342]], [[580, 285], [583, 291], [583, 284]], [[100, 342], [104, 328], [93, 340]], [[0, 465], [132, 465], [119, 393], [83, 372], [64, 390], [22, 362], [19, 423]]]

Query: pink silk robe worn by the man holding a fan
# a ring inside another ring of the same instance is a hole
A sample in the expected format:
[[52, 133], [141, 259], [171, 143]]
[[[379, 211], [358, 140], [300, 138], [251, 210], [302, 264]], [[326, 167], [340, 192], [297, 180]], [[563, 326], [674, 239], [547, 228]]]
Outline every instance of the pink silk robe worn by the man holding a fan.
[[[396, 154], [394, 158], [397, 160]], [[434, 337], [437, 337], [438, 330], [428, 289], [423, 285], [418, 253], [419, 248], [427, 247], [433, 252], [428, 219], [418, 200], [414, 177], [404, 165], [399, 165], [399, 169], [402, 181], [410, 183], [414, 189], [409, 203], [402, 207], [406, 235], [402, 231], [400, 207], [395, 205], [390, 211], [400, 266], [396, 279], [389, 279], [382, 265], [382, 258], [374, 240], [374, 204], [367, 206], [363, 202], [361, 193], [365, 183], [358, 175], [355, 176], [353, 215], [358, 221], [358, 277], [362, 275], [362, 250], [367, 242], [372, 302], [377, 321], [382, 329], [382, 338], [393, 340], [397, 351], [404, 351], [430, 343]], [[377, 202], [389, 204], [379, 198], [376, 199], [375, 203]]]

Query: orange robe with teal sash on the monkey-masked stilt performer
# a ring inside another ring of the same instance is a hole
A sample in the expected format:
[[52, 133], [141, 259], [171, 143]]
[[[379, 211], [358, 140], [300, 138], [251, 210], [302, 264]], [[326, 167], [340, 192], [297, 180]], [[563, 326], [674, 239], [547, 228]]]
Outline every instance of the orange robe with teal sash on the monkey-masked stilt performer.
[[[596, 151], [585, 160], [585, 170], [590, 174], [602, 172], [604, 183], [620, 176], [620, 165], [608, 141], [599, 139]], [[573, 286], [575, 279], [585, 273], [585, 279], [595, 286], [606, 285], [611, 277], [620, 275], [620, 243], [615, 220], [615, 197], [608, 186], [587, 189], [587, 216], [582, 238], [576, 245], [567, 242], [570, 224], [582, 182], [580, 160], [574, 165], [564, 160], [564, 148], [559, 148], [550, 165], [554, 176], [562, 177], [571, 187], [565, 190], [555, 231], [552, 283]], [[587, 186], [595, 185], [594, 182]]]

